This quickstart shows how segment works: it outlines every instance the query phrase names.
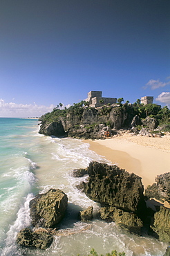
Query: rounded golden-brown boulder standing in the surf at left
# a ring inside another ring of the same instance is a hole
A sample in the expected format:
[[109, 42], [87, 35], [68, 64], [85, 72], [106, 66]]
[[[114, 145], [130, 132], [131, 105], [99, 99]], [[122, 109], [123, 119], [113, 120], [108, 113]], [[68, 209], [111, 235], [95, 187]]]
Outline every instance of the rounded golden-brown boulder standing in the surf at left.
[[68, 198], [61, 190], [50, 189], [45, 194], [38, 194], [30, 201], [32, 226], [52, 228], [64, 217]]

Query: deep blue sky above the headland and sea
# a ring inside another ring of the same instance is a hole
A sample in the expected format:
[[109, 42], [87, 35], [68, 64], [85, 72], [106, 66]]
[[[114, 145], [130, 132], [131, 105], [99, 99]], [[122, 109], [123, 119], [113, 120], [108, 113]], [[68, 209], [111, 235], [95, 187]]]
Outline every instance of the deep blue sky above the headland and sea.
[[1, 0], [0, 117], [88, 91], [170, 106], [170, 1]]

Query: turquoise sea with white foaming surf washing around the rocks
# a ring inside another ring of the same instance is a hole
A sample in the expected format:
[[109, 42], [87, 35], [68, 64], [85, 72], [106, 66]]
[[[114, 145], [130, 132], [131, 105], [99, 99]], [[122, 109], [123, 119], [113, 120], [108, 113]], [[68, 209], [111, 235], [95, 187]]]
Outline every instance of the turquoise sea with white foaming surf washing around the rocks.
[[[138, 237], [120, 231], [115, 223], [94, 219], [77, 221], [79, 210], [99, 205], [79, 192], [75, 185], [83, 178], [73, 178], [73, 170], [87, 167], [91, 161], [108, 163], [106, 158], [88, 149], [88, 144], [72, 138], [54, 138], [38, 133], [38, 120], [0, 118], [0, 255], [87, 255], [111, 250], [132, 255], [163, 255], [167, 244], [151, 237]], [[68, 196], [68, 212], [61, 228], [70, 235], [56, 236], [47, 250], [20, 248], [17, 232], [30, 226], [29, 201], [38, 193], [59, 188]]]

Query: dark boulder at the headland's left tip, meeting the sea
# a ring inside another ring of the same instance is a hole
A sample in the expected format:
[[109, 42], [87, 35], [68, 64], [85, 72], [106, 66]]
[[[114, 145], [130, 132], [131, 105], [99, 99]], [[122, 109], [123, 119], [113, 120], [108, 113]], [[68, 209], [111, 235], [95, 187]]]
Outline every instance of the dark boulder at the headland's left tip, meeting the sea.
[[64, 131], [61, 120], [51, 123], [42, 122], [39, 129], [39, 134], [56, 137], [66, 136], [66, 132]]

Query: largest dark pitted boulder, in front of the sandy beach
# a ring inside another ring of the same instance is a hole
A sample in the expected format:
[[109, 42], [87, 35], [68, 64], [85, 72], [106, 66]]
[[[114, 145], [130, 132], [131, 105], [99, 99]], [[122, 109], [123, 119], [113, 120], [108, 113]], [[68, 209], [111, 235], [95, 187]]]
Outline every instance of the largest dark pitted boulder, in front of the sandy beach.
[[92, 162], [87, 169], [86, 195], [102, 205], [115, 206], [139, 214], [146, 210], [144, 187], [139, 176], [116, 165]]

